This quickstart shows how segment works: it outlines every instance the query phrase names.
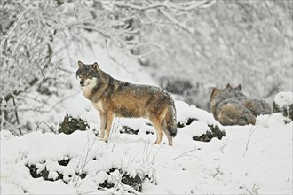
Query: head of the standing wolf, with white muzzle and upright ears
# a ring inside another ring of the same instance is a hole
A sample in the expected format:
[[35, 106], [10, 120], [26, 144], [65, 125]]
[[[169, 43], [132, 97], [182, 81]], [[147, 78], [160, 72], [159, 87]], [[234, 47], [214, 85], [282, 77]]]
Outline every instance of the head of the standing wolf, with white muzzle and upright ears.
[[97, 62], [92, 65], [85, 65], [78, 61], [78, 70], [76, 71], [76, 79], [81, 87], [94, 87], [99, 78], [99, 65]]

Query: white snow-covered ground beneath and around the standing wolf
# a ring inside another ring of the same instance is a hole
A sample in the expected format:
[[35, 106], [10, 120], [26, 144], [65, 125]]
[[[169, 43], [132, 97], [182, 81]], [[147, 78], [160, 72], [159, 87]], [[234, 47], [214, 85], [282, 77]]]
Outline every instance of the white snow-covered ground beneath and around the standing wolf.
[[[117, 79], [155, 84], [134, 61], [119, 57], [124, 65], [121, 66], [107, 58], [101, 48], [94, 51], [97, 56], [76, 58], [84, 63], [97, 60], [101, 69]], [[223, 128], [210, 113], [177, 101], [178, 121], [184, 123], [191, 117], [199, 121], [178, 128], [174, 146], [166, 144], [166, 137], [162, 144], [154, 145], [154, 128], [143, 119], [116, 119], [111, 139], [104, 143], [92, 131], [99, 129], [99, 113], [83, 97], [74, 74], [69, 82], [73, 83], [72, 90], [77, 95], [60, 105], [64, 106], [62, 113], [40, 118], [62, 121], [65, 113], [69, 113], [88, 121], [91, 128], [71, 135], [38, 131], [20, 137], [2, 130], [1, 194], [139, 193], [120, 182], [124, 173], [145, 178], [142, 194], [293, 192], [292, 122], [285, 124], [281, 113], [259, 116], [255, 126]], [[225, 129], [226, 137], [213, 138], [208, 143], [194, 141], [193, 136], [209, 130], [208, 124]], [[138, 135], [123, 133], [124, 125], [139, 129]], [[34, 178], [28, 168], [34, 169], [32, 166], [36, 166], [36, 175], [43, 171], [56, 181], [45, 181], [42, 176]], [[115, 185], [100, 187], [105, 181]]]

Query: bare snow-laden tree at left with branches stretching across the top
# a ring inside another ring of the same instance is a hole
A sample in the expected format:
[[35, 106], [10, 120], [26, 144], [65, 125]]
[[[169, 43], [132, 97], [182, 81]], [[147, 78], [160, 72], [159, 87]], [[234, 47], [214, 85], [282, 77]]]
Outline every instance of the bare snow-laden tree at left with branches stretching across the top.
[[188, 20], [196, 10], [214, 2], [1, 1], [1, 129], [22, 134], [27, 111], [44, 113], [49, 98], [62, 97], [60, 81], [71, 71], [59, 53], [72, 45], [76, 50], [91, 47], [84, 32], [98, 33], [108, 45], [139, 56], [142, 54], [135, 50], [143, 45], [160, 47], [141, 43], [138, 37], [143, 25], [171, 24], [192, 33]]

